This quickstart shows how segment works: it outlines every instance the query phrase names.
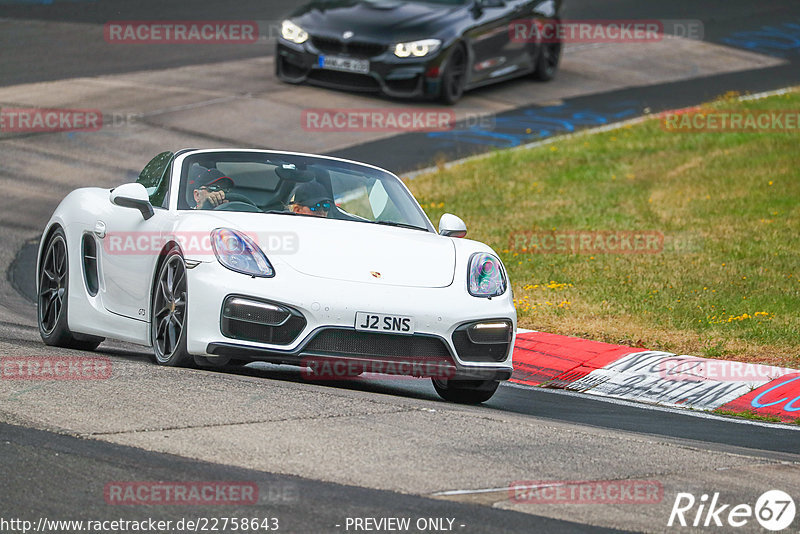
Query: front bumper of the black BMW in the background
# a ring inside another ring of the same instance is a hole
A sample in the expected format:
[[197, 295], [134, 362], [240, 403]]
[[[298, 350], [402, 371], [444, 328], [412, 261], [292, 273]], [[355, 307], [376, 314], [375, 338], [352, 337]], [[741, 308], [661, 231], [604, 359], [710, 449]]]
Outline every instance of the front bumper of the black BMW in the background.
[[435, 98], [440, 92], [441, 52], [429, 58], [398, 58], [390, 50], [371, 57], [348, 54], [344, 57], [369, 60], [369, 73], [323, 69], [319, 57], [324, 51], [309, 39], [302, 45], [279, 41], [275, 53], [275, 72], [289, 83], [307, 82], [321, 87], [358, 92], [378, 92], [394, 98]]

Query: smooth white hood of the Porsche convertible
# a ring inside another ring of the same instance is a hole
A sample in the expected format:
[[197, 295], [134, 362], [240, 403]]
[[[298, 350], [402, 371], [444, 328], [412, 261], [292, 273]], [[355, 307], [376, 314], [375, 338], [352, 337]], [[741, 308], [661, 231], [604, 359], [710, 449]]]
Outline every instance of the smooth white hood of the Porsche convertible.
[[432, 232], [257, 213], [195, 212], [192, 219], [187, 229], [210, 232], [227, 227], [246, 233], [278, 274], [291, 268], [331, 280], [409, 287], [447, 287], [453, 282], [455, 245]]

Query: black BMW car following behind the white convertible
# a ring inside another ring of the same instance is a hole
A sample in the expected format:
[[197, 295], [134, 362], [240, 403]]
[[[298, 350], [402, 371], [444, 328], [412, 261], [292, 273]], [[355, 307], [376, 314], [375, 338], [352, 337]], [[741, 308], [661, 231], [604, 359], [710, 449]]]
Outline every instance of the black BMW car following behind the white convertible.
[[317, 0], [283, 21], [275, 72], [289, 83], [454, 104], [522, 75], [551, 79], [562, 0]]

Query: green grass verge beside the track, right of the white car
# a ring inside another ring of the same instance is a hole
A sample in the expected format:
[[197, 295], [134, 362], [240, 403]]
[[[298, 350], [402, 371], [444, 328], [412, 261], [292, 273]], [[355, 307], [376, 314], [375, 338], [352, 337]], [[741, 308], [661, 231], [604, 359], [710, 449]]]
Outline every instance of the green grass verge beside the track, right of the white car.
[[[719, 109], [800, 110], [800, 92]], [[506, 264], [521, 327], [800, 367], [800, 132], [654, 118], [408, 181]], [[656, 254], [531, 254], [517, 232], [657, 231]]]

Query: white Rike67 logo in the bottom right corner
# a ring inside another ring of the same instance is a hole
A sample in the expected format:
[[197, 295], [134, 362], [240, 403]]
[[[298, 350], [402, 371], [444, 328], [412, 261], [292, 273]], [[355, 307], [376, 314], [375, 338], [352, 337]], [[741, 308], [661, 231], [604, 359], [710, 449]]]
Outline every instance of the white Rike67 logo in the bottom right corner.
[[781, 490], [764, 492], [755, 506], [749, 504], [724, 504], [719, 493], [703, 494], [696, 499], [691, 493], [678, 493], [669, 514], [667, 526], [692, 527], [743, 527], [753, 518], [765, 529], [777, 532], [788, 528], [794, 521], [794, 499]]

